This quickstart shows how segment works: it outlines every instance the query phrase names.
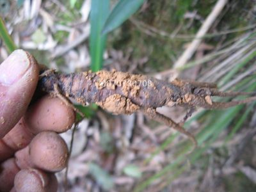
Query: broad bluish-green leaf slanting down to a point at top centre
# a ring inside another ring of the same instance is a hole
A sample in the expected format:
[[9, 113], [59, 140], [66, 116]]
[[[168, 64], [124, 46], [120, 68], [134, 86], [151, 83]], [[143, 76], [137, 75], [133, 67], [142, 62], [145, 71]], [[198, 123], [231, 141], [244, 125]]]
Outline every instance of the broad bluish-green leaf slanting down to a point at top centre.
[[144, 0], [120, 0], [109, 14], [104, 24], [102, 34], [107, 34], [113, 31], [113, 29], [118, 28], [118, 26], [140, 8], [143, 1]]

